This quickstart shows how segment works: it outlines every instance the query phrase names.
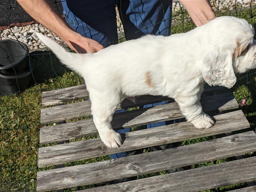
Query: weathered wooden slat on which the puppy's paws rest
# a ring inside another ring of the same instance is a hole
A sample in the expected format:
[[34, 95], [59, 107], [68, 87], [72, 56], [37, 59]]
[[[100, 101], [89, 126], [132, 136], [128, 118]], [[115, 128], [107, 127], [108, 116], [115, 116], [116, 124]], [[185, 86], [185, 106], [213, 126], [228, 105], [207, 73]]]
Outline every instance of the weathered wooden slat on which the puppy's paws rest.
[[108, 154], [135, 150], [156, 145], [216, 135], [250, 127], [241, 110], [214, 116], [216, 124], [210, 129], [196, 129], [190, 122], [165, 125], [157, 128], [121, 134], [123, 144], [108, 149], [100, 138], [76, 141], [38, 149], [38, 166], [50, 166]]

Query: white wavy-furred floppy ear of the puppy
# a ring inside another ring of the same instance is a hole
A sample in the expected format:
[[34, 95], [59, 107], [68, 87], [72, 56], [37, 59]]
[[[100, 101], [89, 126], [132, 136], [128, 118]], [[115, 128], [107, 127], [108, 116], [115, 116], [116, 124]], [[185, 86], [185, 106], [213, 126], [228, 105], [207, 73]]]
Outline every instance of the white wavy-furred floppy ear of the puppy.
[[232, 50], [220, 51], [219, 47], [206, 54], [203, 60], [202, 71], [204, 81], [211, 86], [233, 87], [236, 83], [236, 76], [232, 65], [233, 54]]

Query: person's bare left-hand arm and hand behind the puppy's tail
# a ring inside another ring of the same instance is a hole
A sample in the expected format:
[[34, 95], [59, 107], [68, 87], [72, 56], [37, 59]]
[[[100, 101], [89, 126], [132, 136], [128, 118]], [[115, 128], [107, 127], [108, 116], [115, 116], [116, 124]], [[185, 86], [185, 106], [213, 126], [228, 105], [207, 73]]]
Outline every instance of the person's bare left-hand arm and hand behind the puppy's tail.
[[76, 52], [97, 52], [104, 47], [97, 41], [81, 36], [61, 18], [48, 0], [17, 0], [36, 21], [50, 29]]

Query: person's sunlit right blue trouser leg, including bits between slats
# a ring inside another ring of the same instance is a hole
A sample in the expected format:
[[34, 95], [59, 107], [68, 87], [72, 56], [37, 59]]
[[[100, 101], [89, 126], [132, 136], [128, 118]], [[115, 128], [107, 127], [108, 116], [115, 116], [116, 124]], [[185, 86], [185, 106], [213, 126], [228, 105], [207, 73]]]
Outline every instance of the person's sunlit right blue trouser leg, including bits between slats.
[[[124, 26], [126, 40], [145, 34], [171, 34], [172, 1], [121, 0], [118, 11]], [[144, 105], [143, 108], [166, 104], [167, 101]], [[147, 124], [147, 128], [165, 125], [165, 122]]]

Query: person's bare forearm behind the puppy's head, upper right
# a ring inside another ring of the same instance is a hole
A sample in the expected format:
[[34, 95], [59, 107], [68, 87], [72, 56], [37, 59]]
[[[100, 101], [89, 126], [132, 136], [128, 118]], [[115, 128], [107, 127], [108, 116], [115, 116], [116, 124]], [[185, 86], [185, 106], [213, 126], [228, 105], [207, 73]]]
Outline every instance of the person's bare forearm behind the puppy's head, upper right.
[[196, 27], [216, 18], [208, 0], [180, 0]]

